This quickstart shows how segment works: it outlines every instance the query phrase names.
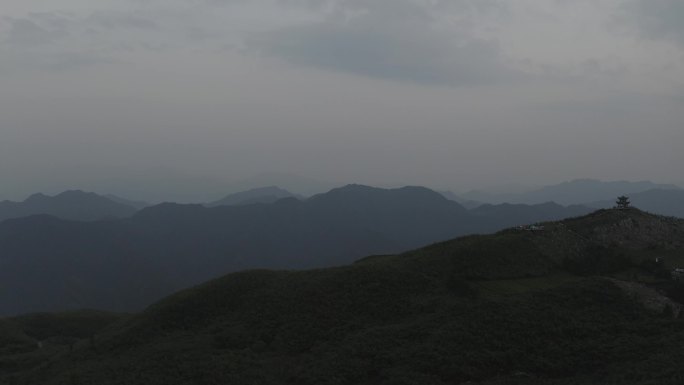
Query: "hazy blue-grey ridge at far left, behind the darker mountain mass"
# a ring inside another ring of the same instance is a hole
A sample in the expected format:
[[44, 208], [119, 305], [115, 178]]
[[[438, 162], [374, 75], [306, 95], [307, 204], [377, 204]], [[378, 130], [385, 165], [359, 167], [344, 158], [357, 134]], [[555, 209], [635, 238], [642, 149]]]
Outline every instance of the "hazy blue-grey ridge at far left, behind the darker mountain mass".
[[53, 197], [34, 194], [23, 202], [0, 202], [0, 222], [30, 215], [52, 215], [75, 221], [124, 218], [137, 209], [109, 198], [83, 191], [65, 191]]

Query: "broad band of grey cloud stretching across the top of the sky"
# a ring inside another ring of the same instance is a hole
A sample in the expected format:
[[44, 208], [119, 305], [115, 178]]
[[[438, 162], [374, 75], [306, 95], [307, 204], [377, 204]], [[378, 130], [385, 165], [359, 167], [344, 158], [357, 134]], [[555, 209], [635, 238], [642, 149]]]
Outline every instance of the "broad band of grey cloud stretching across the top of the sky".
[[[644, 36], [684, 43], [684, 2], [612, 3], [627, 11], [629, 22]], [[74, 61], [80, 63], [113, 62], [120, 59], [116, 51], [122, 49], [239, 47], [243, 54], [260, 52], [296, 65], [452, 86], [497, 84], [529, 79], [535, 73], [568, 71], [564, 64], [539, 61], [533, 54], [515, 57], [516, 52], [511, 55], [508, 45], [502, 45], [503, 35], [516, 32], [511, 24], [515, 10], [534, 10], [529, 0], [145, 0], [131, 4], [137, 5], [78, 16], [34, 12], [21, 18], [5, 17], [0, 21], [6, 27], [4, 38], [0, 36], [7, 50], [4, 55], [15, 62], [24, 62], [26, 57], [40, 61], [42, 55], [46, 64], [42, 68], [50, 68], [51, 61], [66, 56], [92, 59]], [[572, 3], [563, 7], [568, 4]], [[253, 13], [259, 12], [254, 9], [269, 10], [270, 16], [241, 20], [240, 13], [250, 9]], [[293, 12], [300, 17], [293, 18]], [[568, 52], [574, 48], [569, 46]], [[580, 67], [594, 63], [596, 68], [620, 68], [605, 66], [601, 57], [577, 58]], [[574, 71], [586, 70], [580, 67]]]

